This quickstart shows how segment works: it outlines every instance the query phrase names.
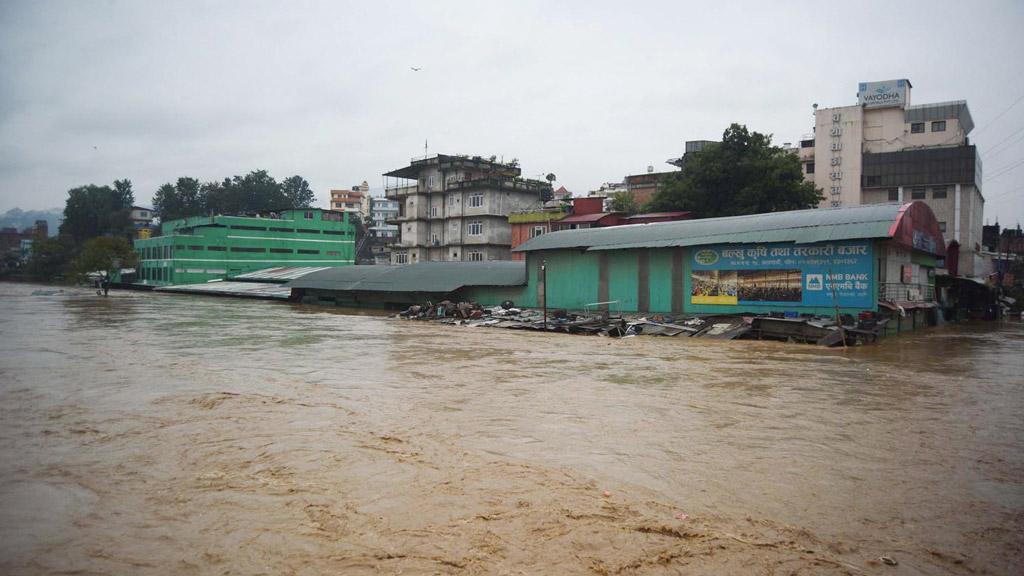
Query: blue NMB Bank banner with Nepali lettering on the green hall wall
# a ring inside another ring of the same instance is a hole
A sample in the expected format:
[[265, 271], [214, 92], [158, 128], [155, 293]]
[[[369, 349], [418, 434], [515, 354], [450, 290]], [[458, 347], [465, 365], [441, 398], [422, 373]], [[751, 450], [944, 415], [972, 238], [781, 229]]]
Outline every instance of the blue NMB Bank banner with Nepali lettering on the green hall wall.
[[871, 307], [871, 244], [719, 244], [693, 250], [691, 304]]

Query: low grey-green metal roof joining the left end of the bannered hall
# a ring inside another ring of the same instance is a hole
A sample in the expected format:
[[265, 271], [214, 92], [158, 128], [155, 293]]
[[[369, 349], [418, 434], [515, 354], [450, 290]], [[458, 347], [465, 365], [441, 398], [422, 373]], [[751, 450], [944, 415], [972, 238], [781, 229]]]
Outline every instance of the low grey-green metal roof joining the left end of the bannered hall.
[[289, 288], [369, 292], [453, 292], [464, 286], [521, 286], [526, 262], [420, 262], [395, 266], [339, 266], [313, 272]]

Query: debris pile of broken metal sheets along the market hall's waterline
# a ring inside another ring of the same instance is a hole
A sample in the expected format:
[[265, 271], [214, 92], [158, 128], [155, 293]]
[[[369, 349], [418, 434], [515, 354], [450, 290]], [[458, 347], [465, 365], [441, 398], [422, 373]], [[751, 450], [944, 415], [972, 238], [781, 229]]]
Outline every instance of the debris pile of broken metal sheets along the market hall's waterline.
[[632, 336], [671, 336], [719, 340], [774, 339], [820, 345], [858, 345], [874, 342], [885, 321], [861, 315], [854, 319], [782, 314], [743, 316], [673, 317], [612, 315], [607, 311], [579, 314], [550, 310], [547, 318], [536, 308], [518, 308], [506, 300], [499, 306], [485, 307], [476, 302], [443, 300], [434, 304], [414, 304], [396, 315], [403, 320], [433, 321], [455, 326], [494, 327], [510, 330], [540, 330], [625, 338]]

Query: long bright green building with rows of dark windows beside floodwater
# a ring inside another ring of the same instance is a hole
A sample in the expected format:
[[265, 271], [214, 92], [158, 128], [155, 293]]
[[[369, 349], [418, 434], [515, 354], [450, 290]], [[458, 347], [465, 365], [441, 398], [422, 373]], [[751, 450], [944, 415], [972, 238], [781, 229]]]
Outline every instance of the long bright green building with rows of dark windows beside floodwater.
[[355, 228], [344, 212], [305, 208], [194, 216], [163, 222], [161, 229], [161, 236], [135, 241], [136, 284], [196, 284], [275, 266], [354, 263]]

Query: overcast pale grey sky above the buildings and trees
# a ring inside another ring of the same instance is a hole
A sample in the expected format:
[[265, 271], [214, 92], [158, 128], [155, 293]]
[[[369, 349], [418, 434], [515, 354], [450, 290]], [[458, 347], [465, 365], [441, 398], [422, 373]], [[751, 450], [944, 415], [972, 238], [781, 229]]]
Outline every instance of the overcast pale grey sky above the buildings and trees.
[[0, 210], [124, 177], [145, 204], [178, 176], [257, 168], [301, 174], [326, 205], [331, 188], [380, 188], [424, 140], [518, 158], [524, 175], [584, 194], [671, 168], [684, 140], [730, 122], [797, 141], [812, 104], [909, 78], [915, 104], [968, 100], [986, 218], [1016, 223], [1021, 30], [1019, 0], [7, 0]]

